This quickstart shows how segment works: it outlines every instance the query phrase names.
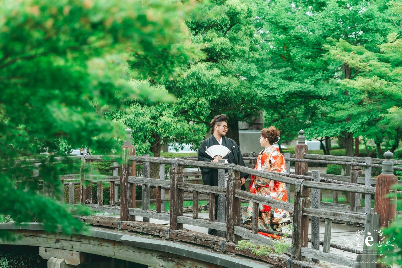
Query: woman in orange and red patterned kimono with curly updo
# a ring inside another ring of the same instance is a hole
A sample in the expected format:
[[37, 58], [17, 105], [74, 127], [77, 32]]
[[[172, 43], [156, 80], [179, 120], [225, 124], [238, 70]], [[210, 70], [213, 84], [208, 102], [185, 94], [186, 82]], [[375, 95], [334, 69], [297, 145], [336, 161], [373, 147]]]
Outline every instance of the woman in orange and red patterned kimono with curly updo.
[[[279, 135], [279, 130], [274, 126], [264, 128], [261, 131], [260, 144], [262, 147], [265, 147], [265, 149], [258, 155], [257, 164], [254, 169], [279, 173], [286, 172], [285, 159], [283, 155], [279, 153], [279, 148], [273, 146], [273, 144], [279, 141]], [[251, 179], [250, 193], [287, 202], [285, 183], [254, 175], [251, 175]], [[250, 202], [247, 207], [245, 225], [252, 225], [252, 206], [253, 203]], [[290, 223], [291, 219], [288, 211], [259, 204], [258, 228], [282, 232], [284, 231], [283, 227]], [[276, 235], [269, 235], [267, 233], [258, 233], [270, 237], [277, 237]]]

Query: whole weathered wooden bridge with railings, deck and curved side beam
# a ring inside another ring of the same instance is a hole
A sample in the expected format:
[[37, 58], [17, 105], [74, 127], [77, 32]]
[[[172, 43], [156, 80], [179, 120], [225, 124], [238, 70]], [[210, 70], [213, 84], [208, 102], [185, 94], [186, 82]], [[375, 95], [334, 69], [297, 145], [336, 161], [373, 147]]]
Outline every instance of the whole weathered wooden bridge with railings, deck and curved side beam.
[[[395, 200], [390, 200], [388, 194], [394, 191], [392, 187], [397, 183], [393, 170], [402, 170], [402, 167], [394, 164], [402, 165], [402, 161], [391, 160], [392, 153], [384, 154], [385, 161], [312, 155], [308, 154], [304, 132], [300, 131], [295, 155], [285, 153], [287, 173], [279, 174], [252, 169], [256, 161], [255, 153], [243, 155], [244, 160], [249, 163], [248, 167], [200, 162], [191, 157], [165, 159], [149, 155], [135, 156], [130, 133], [131, 130], [127, 130], [121, 156], [69, 157], [71, 161], [81, 161], [81, 173], [60, 177], [63, 189], [65, 186], [69, 188], [70, 204], [74, 204], [74, 185], [79, 184], [80, 202], [94, 211], [104, 213], [99, 216], [79, 216], [81, 221], [91, 225], [89, 233], [77, 233], [73, 236], [47, 234], [38, 223], [2, 223], [0, 229], [8, 229], [20, 236], [21, 239], [12, 242], [14, 244], [39, 246], [41, 256], [49, 259], [48, 267], [62, 267], [61, 264], [70, 265], [65, 267], [90, 267], [83, 266], [89, 262], [88, 254], [144, 265], [138, 267], [376, 266], [377, 255], [369, 254], [371, 249], [364, 241], [371, 236], [368, 239], [374, 245], [377, 244], [375, 230], [388, 226], [388, 222], [395, 219], [396, 203]], [[110, 162], [114, 174], [93, 174], [88, 167], [94, 161]], [[295, 162], [294, 173], [290, 173], [291, 161]], [[44, 163], [36, 163], [35, 159], [28, 162], [30, 165], [21, 164], [33, 168], [33, 175], [38, 177]], [[159, 164], [160, 179], [150, 178], [150, 163]], [[320, 174], [318, 171], [309, 173], [308, 163], [349, 165], [351, 175]], [[137, 165], [143, 166], [142, 177], [135, 176]], [[165, 165], [170, 165], [168, 179], [165, 179]], [[200, 173], [184, 172], [184, 167], [218, 169], [219, 186], [200, 185]], [[361, 177], [361, 167], [365, 167], [364, 177]], [[371, 178], [371, 168], [382, 168], [377, 179]], [[225, 170], [228, 171], [227, 187], [224, 187]], [[240, 172], [284, 182], [289, 193], [294, 187], [293, 204], [240, 190]], [[92, 183], [97, 186], [95, 204], [92, 202]], [[103, 202], [105, 183], [110, 185], [109, 204]], [[142, 188], [141, 208], [137, 208], [135, 200], [135, 188], [139, 186]], [[150, 188], [156, 189], [155, 210], [150, 209]], [[333, 191], [333, 203], [320, 201], [322, 190]], [[44, 186], [44, 191], [45, 194], [54, 196], [51, 187]], [[338, 191], [349, 192], [349, 205], [337, 204]], [[165, 192], [166, 195], [169, 192], [168, 199], [165, 198]], [[218, 196], [216, 208], [215, 196]], [[364, 207], [361, 206], [362, 196], [365, 200]], [[375, 196], [374, 208], [371, 207], [372, 196]], [[183, 208], [183, 200], [188, 197], [193, 200], [193, 207], [187, 209], [190, 213], [186, 213]], [[66, 198], [62, 195], [59, 199], [64, 202]], [[209, 200], [209, 205], [204, 208], [207, 213], [199, 212], [200, 200]], [[166, 201], [170, 201], [170, 211], [164, 209]], [[277, 232], [283, 239], [276, 240], [258, 233], [274, 233], [258, 229], [258, 218], [253, 218], [251, 228], [242, 225], [242, 202], [253, 202], [253, 214], [257, 214], [258, 204], [289, 211], [293, 231]], [[215, 209], [218, 210], [217, 220], [214, 217]], [[218, 236], [207, 235], [207, 228], [217, 229]], [[251, 248], [238, 248], [238, 241], [241, 239], [252, 241], [257, 252], [263, 252], [261, 245], [273, 250], [260, 256], [255, 255]], [[287, 244], [288, 247], [278, 250], [280, 243]]]

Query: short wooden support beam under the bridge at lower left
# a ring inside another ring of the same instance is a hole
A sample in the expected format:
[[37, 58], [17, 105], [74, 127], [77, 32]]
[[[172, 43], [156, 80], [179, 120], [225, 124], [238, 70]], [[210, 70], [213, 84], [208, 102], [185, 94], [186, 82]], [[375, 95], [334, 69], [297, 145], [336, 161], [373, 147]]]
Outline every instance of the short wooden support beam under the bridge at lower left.
[[77, 266], [91, 261], [90, 254], [85, 252], [76, 252], [72, 250], [57, 249], [51, 247], [39, 247], [39, 256], [45, 260], [50, 258], [59, 258], [66, 260], [66, 264]]

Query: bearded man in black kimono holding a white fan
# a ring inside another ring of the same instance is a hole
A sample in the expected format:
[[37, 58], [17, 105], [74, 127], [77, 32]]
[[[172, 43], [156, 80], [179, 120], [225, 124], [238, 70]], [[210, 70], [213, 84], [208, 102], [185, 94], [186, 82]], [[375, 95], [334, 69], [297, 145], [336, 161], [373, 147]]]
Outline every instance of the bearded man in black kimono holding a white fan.
[[[244, 160], [242, 157], [242, 153], [240, 152], [240, 147], [236, 144], [236, 142], [230, 138], [226, 138], [226, 132], [228, 131], [228, 117], [224, 114], [220, 114], [215, 116], [211, 121], [211, 137], [203, 140], [201, 142], [200, 147], [198, 148], [198, 160], [206, 161], [206, 162], [215, 162], [217, 163], [217, 159], [212, 159], [205, 150], [211, 147], [212, 145], [223, 145], [226, 146], [230, 153], [226, 155], [223, 159], [226, 159], [228, 163], [235, 163], [237, 165], [242, 165], [245, 167]], [[227, 171], [226, 171], [227, 172]], [[201, 168], [201, 176], [204, 182], [204, 185], [218, 186], [218, 170], [217, 169], [207, 169]], [[240, 181], [242, 182], [242, 190], [246, 190], [244, 186], [244, 180], [247, 179], [248, 174], [240, 173]], [[217, 197], [215, 198], [215, 208], [217, 207]], [[218, 210], [215, 209], [215, 219], [217, 219]], [[216, 235], [217, 230], [208, 229], [209, 235]]]

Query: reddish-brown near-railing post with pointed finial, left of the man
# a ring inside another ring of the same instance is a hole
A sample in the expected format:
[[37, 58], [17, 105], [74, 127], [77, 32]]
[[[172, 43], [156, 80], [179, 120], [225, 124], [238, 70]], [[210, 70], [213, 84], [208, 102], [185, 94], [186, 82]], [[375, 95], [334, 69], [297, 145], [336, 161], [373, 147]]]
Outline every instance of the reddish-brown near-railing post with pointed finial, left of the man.
[[120, 221], [135, 221], [135, 216], [129, 215], [129, 208], [135, 207], [135, 183], [129, 183], [128, 177], [135, 175], [135, 162], [130, 161], [130, 156], [135, 155], [131, 129], [125, 130], [127, 135], [121, 146], [120, 169]]

